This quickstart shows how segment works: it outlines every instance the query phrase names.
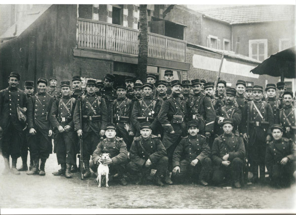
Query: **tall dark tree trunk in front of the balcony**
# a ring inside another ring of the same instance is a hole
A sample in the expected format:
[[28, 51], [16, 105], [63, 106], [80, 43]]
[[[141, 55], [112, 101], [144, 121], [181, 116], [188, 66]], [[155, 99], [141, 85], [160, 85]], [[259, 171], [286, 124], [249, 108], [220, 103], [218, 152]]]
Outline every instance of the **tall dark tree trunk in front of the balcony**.
[[140, 4], [140, 29], [139, 29], [139, 55], [137, 75], [146, 82], [147, 59], [148, 59], [148, 22], [147, 22], [147, 4]]

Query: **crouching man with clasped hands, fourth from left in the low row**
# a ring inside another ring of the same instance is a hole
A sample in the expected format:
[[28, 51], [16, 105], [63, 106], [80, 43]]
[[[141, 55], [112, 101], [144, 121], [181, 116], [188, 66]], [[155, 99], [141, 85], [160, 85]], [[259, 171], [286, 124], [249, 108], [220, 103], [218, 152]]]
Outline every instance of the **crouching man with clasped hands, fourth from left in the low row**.
[[214, 140], [212, 160], [214, 162], [213, 182], [223, 183], [223, 178], [231, 179], [235, 188], [240, 188], [240, 179], [245, 160], [245, 145], [243, 138], [232, 133], [232, 119], [223, 120], [224, 134]]

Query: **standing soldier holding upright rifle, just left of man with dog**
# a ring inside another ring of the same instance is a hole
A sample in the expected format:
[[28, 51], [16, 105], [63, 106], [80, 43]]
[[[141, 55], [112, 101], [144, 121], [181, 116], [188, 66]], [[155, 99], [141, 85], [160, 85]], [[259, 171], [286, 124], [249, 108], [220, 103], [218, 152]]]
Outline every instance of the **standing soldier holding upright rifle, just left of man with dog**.
[[[87, 94], [77, 100], [73, 116], [74, 130], [78, 137], [82, 135], [83, 139], [84, 178], [89, 178], [91, 175], [89, 170], [90, 155], [96, 149], [100, 137], [105, 134], [108, 112], [111, 112], [107, 109], [105, 99], [96, 95], [95, 87], [95, 80], [87, 80]], [[80, 122], [80, 104], [82, 122]]]

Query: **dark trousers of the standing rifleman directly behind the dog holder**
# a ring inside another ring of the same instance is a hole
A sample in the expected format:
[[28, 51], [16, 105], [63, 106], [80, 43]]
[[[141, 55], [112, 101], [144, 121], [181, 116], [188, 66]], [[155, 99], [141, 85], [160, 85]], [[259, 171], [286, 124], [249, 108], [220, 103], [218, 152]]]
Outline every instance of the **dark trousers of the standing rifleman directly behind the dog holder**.
[[99, 135], [95, 132], [83, 132], [83, 160], [90, 160], [90, 156], [96, 150], [97, 145], [100, 141]]

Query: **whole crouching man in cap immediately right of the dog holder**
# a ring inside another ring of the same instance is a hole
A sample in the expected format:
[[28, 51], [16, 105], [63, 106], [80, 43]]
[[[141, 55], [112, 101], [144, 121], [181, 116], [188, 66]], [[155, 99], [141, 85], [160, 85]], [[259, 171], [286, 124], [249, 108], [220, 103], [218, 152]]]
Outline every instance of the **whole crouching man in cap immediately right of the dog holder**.
[[[141, 123], [141, 136], [135, 137], [130, 150], [130, 162], [127, 164], [127, 170], [138, 175], [136, 184], [141, 184], [144, 177], [149, 175], [151, 169], [156, 169], [155, 183], [163, 186], [162, 179], [166, 176], [168, 167], [168, 157], [166, 150], [159, 138], [151, 135], [152, 129], [149, 122]], [[170, 181], [167, 184], [172, 184]]]

